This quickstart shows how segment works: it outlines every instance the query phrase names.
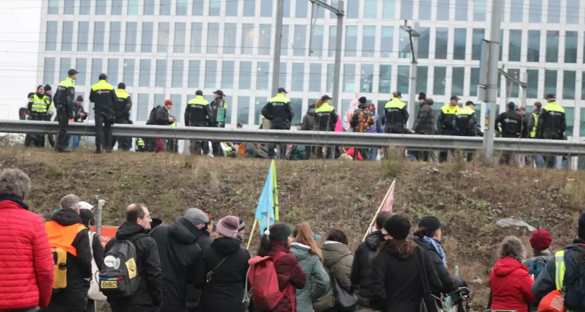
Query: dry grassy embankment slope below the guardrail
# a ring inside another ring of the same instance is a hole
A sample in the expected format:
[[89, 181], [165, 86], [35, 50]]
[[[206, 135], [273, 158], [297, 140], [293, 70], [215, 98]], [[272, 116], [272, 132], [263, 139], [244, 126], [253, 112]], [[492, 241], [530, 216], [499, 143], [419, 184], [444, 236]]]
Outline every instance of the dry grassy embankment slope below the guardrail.
[[[478, 157], [480, 158], [480, 157]], [[394, 211], [413, 223], [425, 215], [446, 224], [443, 245], [449, 268], [473, 283], [476, 303], [487, 299], [487, 280], [495, 262], [494, 248], [506, 235], [521, 237], [524, 229], [501, 229], [495, 221], [516, 217], [550, 230], [553, 249], [576, 234], [576, 216], [585, 210], [583, 172], [481, 167], [466, 164], [424, 164], [402, 160], [380, 162], [277, 162], [281, 221], [309, 221], [326, 234], [344, 228], [355, 248], [393, 178], [397, 178]], [[270, 162], [247, 159], [183, 157], [171, 154], [54, 154], [36, 149], [3, 148], [0, 168], [18, 167], [34, 185], [27, 202], [49, 213], [62, 196], [76, 193], [96, 204], [108, 201], [106, 224], [122, 223], [131, 202], [149, 206], [166, 223], [187, 207], [199, 207], [214, 219], [234, 214], [252, 224], [254, 208]], [[481, 304], [480, 304], [481, 305]]]

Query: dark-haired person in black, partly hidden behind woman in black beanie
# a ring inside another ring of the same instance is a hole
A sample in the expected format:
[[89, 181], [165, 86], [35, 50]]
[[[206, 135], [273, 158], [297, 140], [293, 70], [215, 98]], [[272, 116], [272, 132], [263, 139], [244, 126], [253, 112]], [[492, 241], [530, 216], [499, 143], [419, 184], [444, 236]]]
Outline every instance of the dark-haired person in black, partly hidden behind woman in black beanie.
[[384, 241], [384, 235], [380, 230], [384, 228], [384, 222], [390, 218], [389, 212], [379, 212], [376, 215], [376, 231], [368, 234], [366, 240], [360, 242], [356, 253], [353, 255], [352, 285], [357, 290], [357, 308], [370, 307], [370, 274], [371, 262], [378, 254], [378, 247]]

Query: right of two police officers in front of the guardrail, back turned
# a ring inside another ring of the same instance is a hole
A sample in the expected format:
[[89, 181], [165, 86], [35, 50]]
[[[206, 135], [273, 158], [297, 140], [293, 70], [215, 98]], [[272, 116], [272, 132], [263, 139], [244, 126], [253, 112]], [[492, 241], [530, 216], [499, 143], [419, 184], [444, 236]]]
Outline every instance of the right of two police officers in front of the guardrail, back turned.
[[108, 84], [106, 74], [99, 74], [97, 84], [91, 86], [90, 102], [94, 102], [95, 110], [95, 153], [112, 152], [112, 124], [114, 121], [113, 103], [118, 102], [118, 96], [113, 86]]

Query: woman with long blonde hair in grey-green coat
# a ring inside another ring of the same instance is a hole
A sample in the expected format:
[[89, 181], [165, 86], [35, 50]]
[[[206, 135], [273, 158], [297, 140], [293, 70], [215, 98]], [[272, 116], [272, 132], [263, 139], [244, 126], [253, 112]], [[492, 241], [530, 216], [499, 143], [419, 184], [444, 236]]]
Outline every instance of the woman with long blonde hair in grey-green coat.
[[294, 242], [291, 254], [297, 256], [301, 268], [307, 274], [307, 283], [297, 289], [297, 312], [313, 312], [313, 303], [325, 294], [329, 286], [329, 275], [323, 268], [321, 249], [317, 247], [308, 222], [297, 224], [292, 231]]

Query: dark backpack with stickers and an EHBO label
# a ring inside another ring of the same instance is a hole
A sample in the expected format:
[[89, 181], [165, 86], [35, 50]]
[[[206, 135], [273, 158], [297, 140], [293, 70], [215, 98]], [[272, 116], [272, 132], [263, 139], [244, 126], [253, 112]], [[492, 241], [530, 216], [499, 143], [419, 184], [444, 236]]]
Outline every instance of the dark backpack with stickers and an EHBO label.
[[134, 241], [146, 235], [141, 234], [130, 240], [116, 241], [106, 252], [102, 271], [99, 272], [99, 291], [108, 298], [132, 296], [139, 286]]

